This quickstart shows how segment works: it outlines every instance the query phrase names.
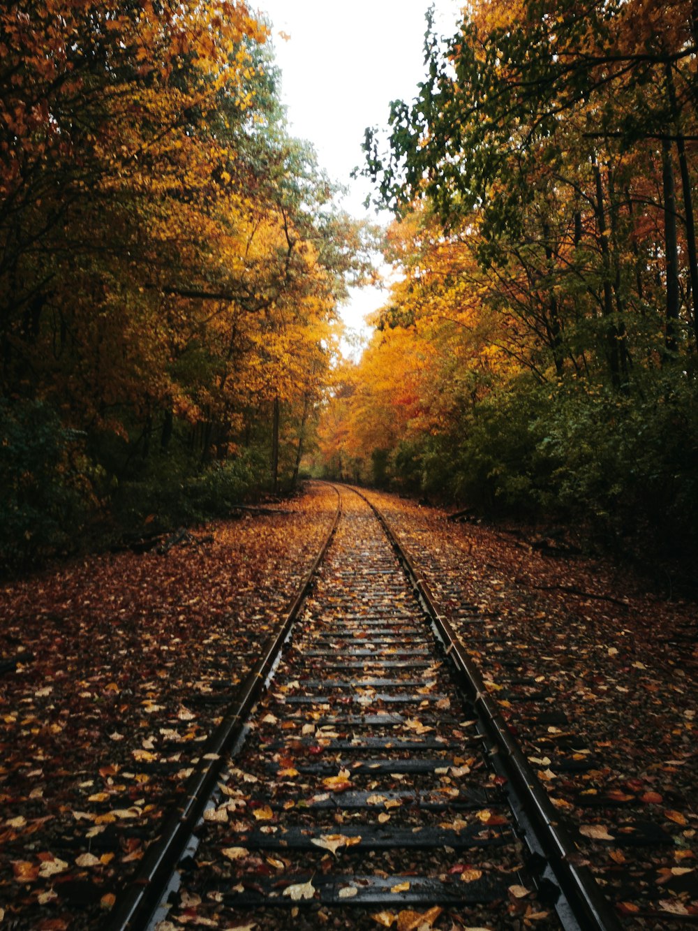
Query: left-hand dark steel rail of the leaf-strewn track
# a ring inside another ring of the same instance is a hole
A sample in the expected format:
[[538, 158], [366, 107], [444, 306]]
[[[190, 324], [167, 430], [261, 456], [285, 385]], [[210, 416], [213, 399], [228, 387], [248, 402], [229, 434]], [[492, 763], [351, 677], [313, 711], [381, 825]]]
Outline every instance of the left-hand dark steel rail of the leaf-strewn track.
[[168, 816], [157, 839], [147, 848], [141, 860], [141, 867], [117, 898], [114, 910], [106, 922], [105, 931], [141, 931], [148, 926], [161, 898], [167, 892], [169, 879], [203, 815], [211, 792], [216, 788], [224, 762], [222, 756], [235, 746], [242, 735], [249, 712], [262, 694], [289, 630], [301, 612], [302, 603], [313, 584], [315, 573], [337, 530], [342, 516], [342, 495], [334, 485], [331, 487], [337, 493], [337, 510], [313, 565], [298, 593], [289, 602], [283, 619], [267, 638], [260, 658], [236, 687], [223, 720], [204, 743], [195, 772], [184, 784], [184, 802]]

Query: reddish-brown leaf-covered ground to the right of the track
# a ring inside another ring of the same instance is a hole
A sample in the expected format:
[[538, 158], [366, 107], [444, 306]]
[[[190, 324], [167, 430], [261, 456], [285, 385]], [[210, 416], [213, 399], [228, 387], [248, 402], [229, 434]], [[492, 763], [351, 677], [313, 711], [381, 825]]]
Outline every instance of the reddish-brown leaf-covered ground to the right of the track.
[[[656, 596], [622, 565], [550, 555], [493, 529], [450, 522], [438, 508], [370, 497], [469, 646], [620, 913], [646, 928], [696, 920], [695, 604]], [[489, 646], [472, 640], [476, 627]], [[545, 705], [570, 725], [527, 739], [526, 682], [548, 692]], [[556, 775], [547, 752], [566, 742], [578, 749], [572, 761], [591, 765]], [[641, 822], [658, 827], [664, 843], [627, 843]]]

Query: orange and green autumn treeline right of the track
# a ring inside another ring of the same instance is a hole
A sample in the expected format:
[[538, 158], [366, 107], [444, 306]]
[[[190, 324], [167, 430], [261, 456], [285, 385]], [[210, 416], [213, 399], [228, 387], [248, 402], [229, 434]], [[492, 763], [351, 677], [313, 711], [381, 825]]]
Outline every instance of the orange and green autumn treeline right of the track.
[[404, 271], [322, 426], [333, 473], [696, 543], [698, 19], [490, 0], [367, 130]]

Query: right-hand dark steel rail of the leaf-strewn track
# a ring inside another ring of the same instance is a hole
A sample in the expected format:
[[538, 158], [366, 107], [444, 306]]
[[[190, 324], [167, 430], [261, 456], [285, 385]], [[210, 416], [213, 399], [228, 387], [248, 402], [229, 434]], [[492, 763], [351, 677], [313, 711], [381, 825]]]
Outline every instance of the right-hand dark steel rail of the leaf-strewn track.
[[365, 494], [356, 488], [352, 491], [363, 498], [381, 521], [396, 554], [403, 561], [413, 587], [421, 596], [426, 612], [444, 642], [447, 657], [455, 668], [460, 683], [482, 715], [490, 737], [501, 751], [499, 758], [509, 784], [517, 793], [518, 802], [530, 819], [536, 840], [544, 851], [548, 865], [567, 898], [576, 921], [584, 931], [621, 931], [623, 925], [601, 892], [592, 871], [575, 863], [580, 856], [576, 844], [570, 833], [559, 823], [557, 811], [530, 762], [509, 732], [496, 704], [490, 699], [479, 669], [465, 653], [463, 643], [449, 620], [438, 613], [436, 599], [422, 573], [400, 543], [382, 511]]

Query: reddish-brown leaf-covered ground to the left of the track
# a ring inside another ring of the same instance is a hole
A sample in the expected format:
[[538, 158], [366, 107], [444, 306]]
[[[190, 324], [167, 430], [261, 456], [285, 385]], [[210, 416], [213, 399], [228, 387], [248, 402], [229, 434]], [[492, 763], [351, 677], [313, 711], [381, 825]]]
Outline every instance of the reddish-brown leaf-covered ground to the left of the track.
[[336, 504], [313, 486], [291, 514], [212, 525], [209, 545], [0, 588], [0, 659], [34, 657], [0, 675], [3, 926], [96, 926], [111, 908]]

